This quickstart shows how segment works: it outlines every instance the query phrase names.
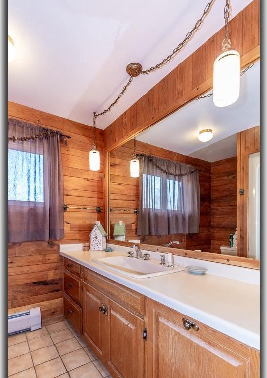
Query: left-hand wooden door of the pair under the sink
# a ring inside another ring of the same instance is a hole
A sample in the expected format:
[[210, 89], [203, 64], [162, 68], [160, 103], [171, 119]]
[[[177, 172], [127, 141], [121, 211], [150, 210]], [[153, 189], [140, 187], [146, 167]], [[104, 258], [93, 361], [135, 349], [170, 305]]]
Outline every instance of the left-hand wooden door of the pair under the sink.
[[84, 284], [83, 336], [89, 347], [105, 363], [106, 315], [99, 308], [106, 297], [89, 284]]

